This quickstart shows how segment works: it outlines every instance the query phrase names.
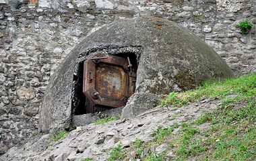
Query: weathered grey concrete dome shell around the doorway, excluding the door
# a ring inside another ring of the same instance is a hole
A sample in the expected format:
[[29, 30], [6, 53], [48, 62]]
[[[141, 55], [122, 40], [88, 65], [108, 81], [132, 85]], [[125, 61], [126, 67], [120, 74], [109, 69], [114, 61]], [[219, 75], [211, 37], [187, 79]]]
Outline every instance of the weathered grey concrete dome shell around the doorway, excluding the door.
[[204, 80], [234, 76], [210, 46], [177, 23], [158, 17], [115, 21], [79, 43], [52, 76], [40, 110], [41, 131], [70, 123], [79, 63], [97, 52], [133, 54], [137, 60], [135, 93], [141, 95], [194, 89]]

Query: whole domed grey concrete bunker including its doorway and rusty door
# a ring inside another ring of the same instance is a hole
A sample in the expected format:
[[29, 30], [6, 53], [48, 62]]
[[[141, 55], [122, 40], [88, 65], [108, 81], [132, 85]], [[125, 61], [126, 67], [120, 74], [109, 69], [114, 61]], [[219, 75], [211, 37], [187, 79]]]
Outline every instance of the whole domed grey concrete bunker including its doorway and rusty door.
[[[117, 56], [120, 60], [109, 65], [108, 56], [113, 56], [113, 59]], [[94, 68], [85, 71], [86, 63]], [[130, 75], [129, 64], [135, 64]], [[118, 80], [125, 82], [130, 76], [136, 77], [124, 83], [128, 84], [125, 85], [127, 88], [122, 85], [115, 99], [115, 85], [103, 84], [108, 75], [117, 72], [108, 74], [102, 71], [106, 66], [108, 70], [115, 68], [128, 75]], [[87, 77], [84, 77], [85, 72]], [[105, 77], [94, 77], [96, 72]], [[160, 95], [195, 89], [204, 80], [233, 76], [226, 62], [210, 46], [177, 23], [148, 16], [115, 21], [77, 44], [56, 70], [40, 109], [39, 130], [49, 132], [72, 124], [86, 125], [94, 119], [90, 113], [109, 112], [113, 108], [121, 113], [121, 117], [135, 117], [157, 105]], [[84, 80], [89, 85], [94, 84], [83, 87]], [[96, 85], [94, 80], [100, 84]], [[127, 96], [131, 97], [126, 103]], [[105, 104], [98, 102], [100, 97], [105, 98]], [[109, 104], [110, 101], [125, 107]]]

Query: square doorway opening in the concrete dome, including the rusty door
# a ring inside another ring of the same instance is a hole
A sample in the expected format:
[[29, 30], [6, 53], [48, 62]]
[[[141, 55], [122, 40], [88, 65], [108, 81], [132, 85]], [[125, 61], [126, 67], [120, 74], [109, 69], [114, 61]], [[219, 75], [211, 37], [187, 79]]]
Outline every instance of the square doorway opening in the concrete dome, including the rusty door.
[[79, 62], [73, 77], [73, 115], [124, 107], [135, 91], [136, 76], [133, 53], [98, 53]]

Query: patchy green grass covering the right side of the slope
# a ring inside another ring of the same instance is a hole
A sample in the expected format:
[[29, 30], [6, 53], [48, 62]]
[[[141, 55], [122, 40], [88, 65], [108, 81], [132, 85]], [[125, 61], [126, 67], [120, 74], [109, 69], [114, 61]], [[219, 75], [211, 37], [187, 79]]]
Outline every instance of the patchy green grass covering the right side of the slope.
[[[232, 95], [232, 96], [230, 96]], [[170, 151], [175, 160], [255, 160], [256, 159], [256, 74], [240, 76], [184, 93], [170, 93], [162, 105], [181, 107], [203, 98], [221, 100], [216, 110], [204, 113], [187, 123], [174, 123], [166, 129], [152, 131], [152, 141], [136, 139], [131, 150], [135, 160], [166, 160]], [[175, 115], [171, 120], [178, 118]], [[199, 130], [200, 127], [200, 130]], [[204, 127], [204, 128], [201, 128]], [[178, 131], [173, 133], [172, 131]], [[170, 150], [161, 154], [151, 152], [152, 146], [168, 144]], [[141, 155], [146, 150], [146, 155]]]

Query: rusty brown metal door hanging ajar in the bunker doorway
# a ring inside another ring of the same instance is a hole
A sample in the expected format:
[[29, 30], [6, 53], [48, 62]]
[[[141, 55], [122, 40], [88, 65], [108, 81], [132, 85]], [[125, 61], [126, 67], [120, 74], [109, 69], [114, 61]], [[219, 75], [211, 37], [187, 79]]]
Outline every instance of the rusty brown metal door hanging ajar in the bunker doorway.
[[123, 107], [135, 90], [135, 73], [129, 57], [96, 54], [84, 62], [83, 93], [88, 113], [104, 107]]

